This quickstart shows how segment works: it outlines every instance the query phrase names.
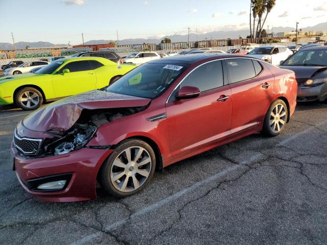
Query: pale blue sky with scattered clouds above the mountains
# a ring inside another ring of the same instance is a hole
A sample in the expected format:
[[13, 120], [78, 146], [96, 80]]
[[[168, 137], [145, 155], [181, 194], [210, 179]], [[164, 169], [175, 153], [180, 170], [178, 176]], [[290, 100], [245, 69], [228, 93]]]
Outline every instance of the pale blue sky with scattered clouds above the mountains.
[[[249, 29], [250, 0], [0, 0], [0, 42], [161, 38]], [[265, 26], [325, 22], [327, 0], [276, 0]], [[271, 30], [269, 30], [271, 32]]]

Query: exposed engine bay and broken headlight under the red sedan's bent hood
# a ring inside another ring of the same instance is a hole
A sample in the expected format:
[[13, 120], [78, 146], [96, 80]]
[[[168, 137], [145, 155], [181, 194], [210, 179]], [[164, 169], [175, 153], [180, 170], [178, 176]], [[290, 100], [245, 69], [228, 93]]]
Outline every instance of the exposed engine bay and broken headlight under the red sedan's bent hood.
[[70, 129], [66, 131], [62, 129], [45, 131], [44, 133], [49, 134], [50, 137], [43, 139], [36, 154], [26, 155], [20, 151], [19, 153], [27, 158], [37, 158], [62, 155], [79, 150], [96, 134], [99, 126], [141, 112], [146, 108], [148, 108], [148, 105], [128, 108], [83, 109], [79, 119]]

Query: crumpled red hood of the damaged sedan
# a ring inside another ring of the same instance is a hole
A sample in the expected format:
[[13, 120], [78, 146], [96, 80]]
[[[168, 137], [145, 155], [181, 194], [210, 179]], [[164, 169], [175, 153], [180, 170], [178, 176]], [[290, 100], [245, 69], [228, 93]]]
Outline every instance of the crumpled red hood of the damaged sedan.
[[75, 124], [83, 109], [138, 107], [146, 106], [150, 101], [140, 97], [92, 90], [41, 107], [25, 117], [23, 124], [26, 128], [39, 132], [66, 131]]

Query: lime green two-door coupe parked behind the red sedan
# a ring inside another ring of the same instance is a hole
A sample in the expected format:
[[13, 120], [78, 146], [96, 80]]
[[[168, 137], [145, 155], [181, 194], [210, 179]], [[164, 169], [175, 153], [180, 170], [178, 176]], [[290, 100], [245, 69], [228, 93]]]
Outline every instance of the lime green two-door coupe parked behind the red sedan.
[[59, 59], [34, 74], [0, 78], [0, 105], [34, 110], [44, 101], [106, 87], [135, 67], [98, 57]]

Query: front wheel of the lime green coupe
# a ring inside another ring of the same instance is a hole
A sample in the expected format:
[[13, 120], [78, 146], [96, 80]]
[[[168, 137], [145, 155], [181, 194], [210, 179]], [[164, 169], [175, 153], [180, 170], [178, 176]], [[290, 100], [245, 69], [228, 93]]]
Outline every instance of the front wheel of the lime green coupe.
[[42, 102], [42, 94], [32, 87], [22, 88], [15, 95], [15, 104], [23, 110], [35, 110], [42, 105]]

